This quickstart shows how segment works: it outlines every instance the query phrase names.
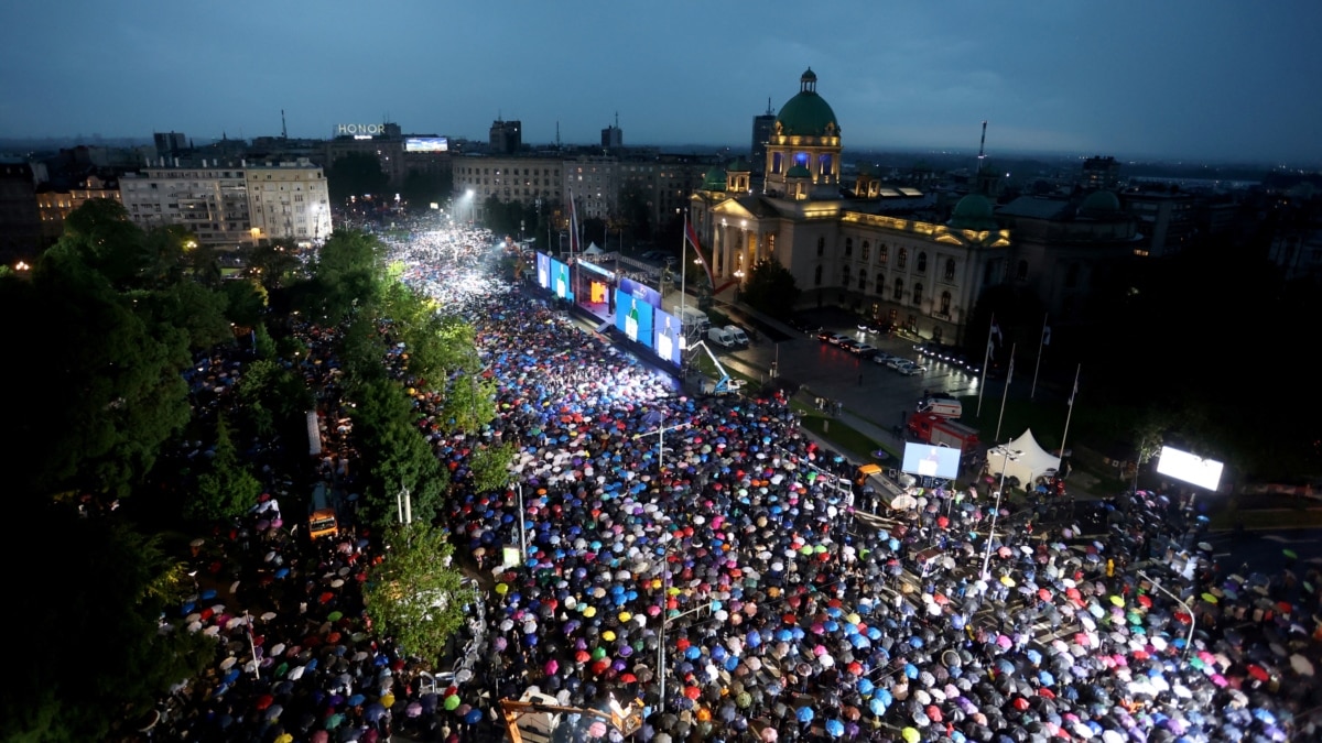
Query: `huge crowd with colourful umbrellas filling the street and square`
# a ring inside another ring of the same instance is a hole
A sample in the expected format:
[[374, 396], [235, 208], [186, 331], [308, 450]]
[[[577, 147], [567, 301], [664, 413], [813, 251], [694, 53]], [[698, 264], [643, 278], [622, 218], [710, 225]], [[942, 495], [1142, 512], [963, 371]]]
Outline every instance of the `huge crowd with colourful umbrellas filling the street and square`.
[[[189, 739], [496, 740], [498, 699], [527, 693], [640, 699], [652, 743], [1317, 739], [1315, 570], [1232, 574], [1159, 493], [1101, 504], [1088, 534], [1009, 510], [993, 529], [986, 483], [873, 514], [780, 393], [689, 393], [494, 275], [492, 245], [391, 245], [405, 280], [476, 325], [498, 410], [481, 436], [517, 447], [509, 489], [459, 487], [443, 514], [485, 592], [457, 673], [373, 633], [370, 535], [295, 557], [267, 500], [200, 547], [246, 554], [239, 579], [267, 598], [250, 617], [206, 594], [181, 607], [219, 644], [181, 690]], [[435, 446], [463, 467], [468, 443]], [[620, 739], [592, 713], [557, 735]]]

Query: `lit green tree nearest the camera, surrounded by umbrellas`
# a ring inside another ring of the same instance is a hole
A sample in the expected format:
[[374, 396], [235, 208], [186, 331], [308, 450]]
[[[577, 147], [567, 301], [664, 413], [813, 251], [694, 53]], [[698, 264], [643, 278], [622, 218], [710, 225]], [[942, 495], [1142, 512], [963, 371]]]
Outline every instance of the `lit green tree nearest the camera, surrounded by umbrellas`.
[[451, 567], [455, 547], [443, 530], [423, 521], [395, 525], [385, 543], [385, 559], [368, 572], [364, 608], [382, 636], [435, 664], [477, 596]]

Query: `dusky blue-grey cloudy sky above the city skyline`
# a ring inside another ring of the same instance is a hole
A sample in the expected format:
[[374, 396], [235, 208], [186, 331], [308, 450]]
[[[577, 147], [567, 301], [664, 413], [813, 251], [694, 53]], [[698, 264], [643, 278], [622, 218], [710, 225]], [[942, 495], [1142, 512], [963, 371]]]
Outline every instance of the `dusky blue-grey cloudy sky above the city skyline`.
[[846, 148], [1322, 165], [1322, 3], [65, 0], [0, 8], [0, 137], [406, 132], [747, 149], [812, 67]]

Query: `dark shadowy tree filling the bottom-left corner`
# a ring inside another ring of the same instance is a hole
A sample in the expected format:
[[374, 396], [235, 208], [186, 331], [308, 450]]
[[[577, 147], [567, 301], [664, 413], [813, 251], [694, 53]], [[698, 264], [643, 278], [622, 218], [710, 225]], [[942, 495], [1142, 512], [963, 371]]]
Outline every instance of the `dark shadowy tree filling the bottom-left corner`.
[[112, 739], [112, 723], [149, 710], [214, 657], [210, 637], [161, 627], [167, 609], [177, 617], [194, 584], [159, 538], [114, 514], [81, 518], [62, 505], [16, 505], [11, 518], [22, 524], [24, 559], [40, 570], [8, 576], [5, 611], [21, 627], [0, 676], [4, 738]]

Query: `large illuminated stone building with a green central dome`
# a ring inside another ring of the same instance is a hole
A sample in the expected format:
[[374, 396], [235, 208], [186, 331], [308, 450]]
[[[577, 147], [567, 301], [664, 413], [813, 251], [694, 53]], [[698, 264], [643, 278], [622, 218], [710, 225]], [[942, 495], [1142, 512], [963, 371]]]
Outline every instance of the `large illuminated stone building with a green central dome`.
[[[1133, 250], [1134, 221], [1113, 193], [997, 208], [969, 193], [945, 223], [912, 218], [935, 198], [888, 188], [861, 169], [841, 182], [841, 126], [810, 69], [780, 108], [767, 140], [765, 181], [747, 185], [746, 163], [715, 168], [689, 198], [718, 295], [734, 297], [750, 268], [772, 259], [793, 274], [806, 307], [838, 305], [923, 338], [962, 344], [982, 292], [1023, 283], [1052, 319], [1071, 312], [1108, 262]], [[978, 185], [994, 181], [980, 177]]]

